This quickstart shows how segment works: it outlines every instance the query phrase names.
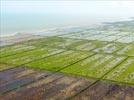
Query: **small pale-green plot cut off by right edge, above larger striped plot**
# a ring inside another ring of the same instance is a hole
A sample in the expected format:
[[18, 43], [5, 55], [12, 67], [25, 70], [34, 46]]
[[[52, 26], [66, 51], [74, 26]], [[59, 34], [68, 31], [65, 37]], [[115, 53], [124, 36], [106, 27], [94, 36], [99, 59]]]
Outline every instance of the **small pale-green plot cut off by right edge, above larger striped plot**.
[[134, 56], [134, 44], [126, 44], [126, 46], [119, 50], [117, 54]]

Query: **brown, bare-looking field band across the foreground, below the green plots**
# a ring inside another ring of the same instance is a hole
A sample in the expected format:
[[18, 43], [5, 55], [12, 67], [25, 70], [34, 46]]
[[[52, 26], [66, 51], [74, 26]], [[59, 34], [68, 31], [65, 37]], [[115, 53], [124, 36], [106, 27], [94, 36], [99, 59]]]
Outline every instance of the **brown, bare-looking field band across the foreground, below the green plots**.
[[133, 86], [24, 67], [0, 72], [1, 100], [133, 100], [133, 91]]

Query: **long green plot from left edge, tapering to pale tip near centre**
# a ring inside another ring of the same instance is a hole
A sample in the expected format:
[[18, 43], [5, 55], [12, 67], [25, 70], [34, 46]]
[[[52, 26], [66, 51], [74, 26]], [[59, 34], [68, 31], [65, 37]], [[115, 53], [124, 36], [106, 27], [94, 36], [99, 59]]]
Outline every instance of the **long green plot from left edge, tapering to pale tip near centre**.
[[53, 49], [53, 48], [39, 48], [29, 52], [23, 52], [12, 56], [3, 57], [1, 58], [0, 61], [13, 64], [13, 65], [21, 65], [36, 59], [41, 59], [46, 56], [60, 53], [62, 51], [63, 50]]

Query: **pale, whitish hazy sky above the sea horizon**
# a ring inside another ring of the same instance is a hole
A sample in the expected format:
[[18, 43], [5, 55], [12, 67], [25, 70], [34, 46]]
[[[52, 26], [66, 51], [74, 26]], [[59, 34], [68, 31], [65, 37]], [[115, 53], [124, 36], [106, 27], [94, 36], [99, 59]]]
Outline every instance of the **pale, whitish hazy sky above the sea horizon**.
[[[134, 1], [116, 0], [74, 0], [74, 1], [26, 1], [2, 0], [2, 11], [6, 12], [44, 12], [44, 13], [129, 13], [134, 12]], [[98, 12], [102, 11], [102, 12]]]

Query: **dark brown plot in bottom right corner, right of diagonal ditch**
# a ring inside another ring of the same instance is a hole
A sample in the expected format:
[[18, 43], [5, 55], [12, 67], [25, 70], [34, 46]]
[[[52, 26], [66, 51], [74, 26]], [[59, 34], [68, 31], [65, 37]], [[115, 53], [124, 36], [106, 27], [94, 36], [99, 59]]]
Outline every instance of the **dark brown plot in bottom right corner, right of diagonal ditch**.
[[77, 95], [73, 100], [133, 100], [133, 98], [133, 86], [100, 81]]

